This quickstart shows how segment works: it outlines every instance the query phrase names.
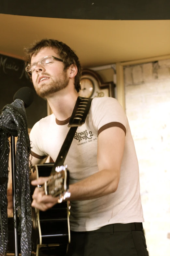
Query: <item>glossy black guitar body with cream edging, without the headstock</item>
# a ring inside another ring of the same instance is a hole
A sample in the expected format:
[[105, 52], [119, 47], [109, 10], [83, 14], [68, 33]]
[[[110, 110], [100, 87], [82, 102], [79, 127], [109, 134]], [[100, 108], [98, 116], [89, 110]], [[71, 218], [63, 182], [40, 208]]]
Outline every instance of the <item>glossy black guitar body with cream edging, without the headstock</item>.
[[[35, 177], [50, 176], [52, 166], [35, 165]], [[31, 197], [34, 189], [31, 185]], [[32, 255], [64, 256], [70, 243], [68, 201], [58, 203], [46, 212], [32, 208], [32, 220]]]

